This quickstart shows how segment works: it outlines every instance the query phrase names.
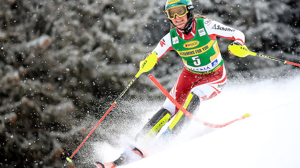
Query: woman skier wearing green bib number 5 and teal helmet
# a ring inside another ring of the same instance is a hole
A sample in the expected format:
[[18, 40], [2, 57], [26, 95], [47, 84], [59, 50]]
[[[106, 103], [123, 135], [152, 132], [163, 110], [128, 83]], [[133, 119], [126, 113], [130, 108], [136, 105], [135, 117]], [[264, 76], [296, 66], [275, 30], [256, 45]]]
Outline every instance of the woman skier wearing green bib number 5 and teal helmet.
[[[217, 21], [206, 19], [193, 13], [192, 0], [167, 0], [165, 11], [171, 24], [170, 32], [165, 35], [150, 55], [159, 60], [167, 51], [175, 50], [182, 58], [184, 68], [170, 94], [185, 109], [195, 113], [202, 101], [217, 96], [226, 83], [226, 71], [216, 41], [216, 36], [231, 39], [230, 45], [243, 45], [244, 34]], [[146, 143], [152, 139], [174, 115], [175, 118], [161, 139], [168, 140], [178, 134], [190, 118], [179, 111], [167, 98], [163, 107], [145, 124], [136, 136], [136, 141]], [[111, 163], [94, 163], [99, 168], [114, 168], [131, 162], [134, 152], [143, 158], [143, 153], [129, 147]]]

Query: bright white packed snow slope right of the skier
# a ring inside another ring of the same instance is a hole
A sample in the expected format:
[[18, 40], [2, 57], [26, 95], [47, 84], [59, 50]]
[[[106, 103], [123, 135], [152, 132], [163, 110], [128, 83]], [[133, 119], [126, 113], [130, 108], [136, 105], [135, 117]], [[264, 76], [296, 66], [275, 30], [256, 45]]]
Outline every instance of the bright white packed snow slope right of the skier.
[[214, 129], [193, 122], [169, 146], [122, 168], [300, 168], [299, 96], [299, 73], [228, 82], [220, 95], [201, 104], [197, 116], [212, 123], [247, 112], [249, 118]]

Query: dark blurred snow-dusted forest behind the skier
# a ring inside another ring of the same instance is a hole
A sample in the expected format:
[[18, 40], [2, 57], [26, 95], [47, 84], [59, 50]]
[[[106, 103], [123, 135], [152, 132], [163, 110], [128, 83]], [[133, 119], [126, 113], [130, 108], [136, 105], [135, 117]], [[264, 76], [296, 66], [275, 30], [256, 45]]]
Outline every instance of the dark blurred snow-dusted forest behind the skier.
[[[193, 2], [196, 12], [241, 30], [250, 50], [300, 63], [298, 0]], [[0, 167], [63, 167], [137, 73], [144, 54], [168, 33], [164, 5], [0, 0]], [[298, 68], [229, 55], [230, 43], [218, 39], [229, 80], [278, 78]], [[151, 73], [171, 89], [182, 67], [179, 56], [168, 52]], [[161, 96], [153, 90], [142, 75], [124, 99]], [[89, 117], [96, 119], [83, 124]]]

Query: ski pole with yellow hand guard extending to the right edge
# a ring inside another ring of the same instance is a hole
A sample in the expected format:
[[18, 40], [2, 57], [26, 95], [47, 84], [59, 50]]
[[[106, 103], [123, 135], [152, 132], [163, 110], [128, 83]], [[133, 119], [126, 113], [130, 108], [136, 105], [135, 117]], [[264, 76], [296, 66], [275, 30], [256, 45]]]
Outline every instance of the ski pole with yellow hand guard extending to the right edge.
[[248, 48], [245, 45], [243, 45], [243, 46], [229, 45], [228, 46], [228, 50], [232, 54], [234, 54], [235, 56], [239, 56], [239, 57], [245, 57], [245, 56], [248, 56], [248, 55], [251, 55], [251, 56], [261, 56], [261, 57], [268, 58], [268, 59], [271, 59], [271, 60], [275, 60], [275, 61], [278, 61], [278, 62], [288, 63], [288, 64], [291, 64], [291, 65], [300, 66], [299, 63], [290, 62], [290, 61], [287, 61], [287, 60], [284, 60], [284, 59], [279, 59], [279, 58], [275, 58], [275, 57], [271, 57], [271, 56], [260, 55], [260, 54], [257, 54], [255, 52], [251, 52], [251, 51], [248, 50]]

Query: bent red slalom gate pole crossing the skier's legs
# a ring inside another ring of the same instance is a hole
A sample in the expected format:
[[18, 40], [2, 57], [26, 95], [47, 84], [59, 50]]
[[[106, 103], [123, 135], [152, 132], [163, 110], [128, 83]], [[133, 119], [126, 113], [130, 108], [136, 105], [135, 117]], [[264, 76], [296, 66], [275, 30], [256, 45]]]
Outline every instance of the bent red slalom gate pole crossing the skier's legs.
[[223, 123], [223, 124], [213, 124], [213, 123], [209, 123], [209, 122], [205, 122], [200, 120], [198, 117], [194, 116], [192, 113], [188, 112], [185, 108], [183, 108], [170, 94], [169, 92], [155, 79], [155, 77], [151, 74], [148, 75], [148, 77], [152, 80], [152, 82], [163, 92], [163, 94], [179, 109], [181, 110], [183, 113], [185, 113], [188, 117], [190, 117], [191, 119], [194, 119], [197, 122], [200, 122], [201, 124], [205, 125], [205, 126], [209, 126], [209, 127], [213, 127], [213, 128], [221, 128], [224, 127], [226, 125], [229, 125], [235, 121], [238, 120], [242, 120], [246, 117], [249, 117], [250, 114], [246, 113], [244, 115], [242, 115], [239, 118], [236, 118], [232, 121]]

